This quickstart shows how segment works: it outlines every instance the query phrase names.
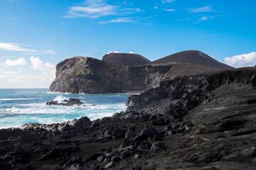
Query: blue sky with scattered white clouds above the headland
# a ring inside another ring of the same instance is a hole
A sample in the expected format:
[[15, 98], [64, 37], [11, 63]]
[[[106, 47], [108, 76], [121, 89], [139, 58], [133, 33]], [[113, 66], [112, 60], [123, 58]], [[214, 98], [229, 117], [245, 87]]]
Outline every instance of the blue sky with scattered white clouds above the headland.
[[48, 88], [68, 57], [200, 50], [256, 64], [255, 0], [0, 0], [0, 89]]

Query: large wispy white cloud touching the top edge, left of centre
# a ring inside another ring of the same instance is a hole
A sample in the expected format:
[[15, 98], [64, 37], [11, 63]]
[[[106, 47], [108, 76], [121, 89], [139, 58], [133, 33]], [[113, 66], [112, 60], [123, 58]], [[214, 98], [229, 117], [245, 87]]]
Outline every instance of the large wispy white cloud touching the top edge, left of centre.
[[121, 6], [108, 5], [102, 0], [87, 0], [83, 6], [70, 7], [65, 17], [99, 18], [102, 16], [128, 15], [139, 11], [139, 8], [122, 8]]

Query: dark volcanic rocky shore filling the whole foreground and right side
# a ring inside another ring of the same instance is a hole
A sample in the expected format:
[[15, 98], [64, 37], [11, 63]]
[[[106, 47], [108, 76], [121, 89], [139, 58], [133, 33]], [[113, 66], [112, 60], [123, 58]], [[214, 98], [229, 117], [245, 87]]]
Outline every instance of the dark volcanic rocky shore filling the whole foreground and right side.
[[0, 169], [255, 169], [256, 68], [177, 77], [91, 121], [0, 130]]

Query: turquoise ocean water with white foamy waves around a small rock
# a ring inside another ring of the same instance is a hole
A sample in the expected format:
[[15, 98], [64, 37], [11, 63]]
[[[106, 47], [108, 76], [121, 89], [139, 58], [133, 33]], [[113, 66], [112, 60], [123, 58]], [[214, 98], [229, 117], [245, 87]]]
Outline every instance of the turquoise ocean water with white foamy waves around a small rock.
[[[25, 123], [62, 123], [87, 116], [91, 120], [126, 110], [129, 94], [60, 94], [49, 89], [0, 89], [0, 128]], [[52, 100], [79, 98], [82, 106], [46, 106]]]

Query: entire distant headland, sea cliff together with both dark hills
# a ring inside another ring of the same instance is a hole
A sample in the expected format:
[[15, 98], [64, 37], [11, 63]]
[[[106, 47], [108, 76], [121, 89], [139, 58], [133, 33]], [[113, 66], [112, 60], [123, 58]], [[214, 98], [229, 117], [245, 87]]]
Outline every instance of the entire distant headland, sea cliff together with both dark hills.
[[72, 57], [57, 64], [56, 78], [50, 85], [50, 91], [72, 94], [140, 93], [159, 86], [165, 79], [230, 68], [198, 51], [179, 52], [174, 57], [171, 55], [155, 62], [149, 62], [141, 55], [123, 53], [110, 53], [103, 60]]

